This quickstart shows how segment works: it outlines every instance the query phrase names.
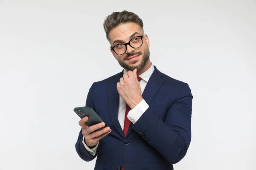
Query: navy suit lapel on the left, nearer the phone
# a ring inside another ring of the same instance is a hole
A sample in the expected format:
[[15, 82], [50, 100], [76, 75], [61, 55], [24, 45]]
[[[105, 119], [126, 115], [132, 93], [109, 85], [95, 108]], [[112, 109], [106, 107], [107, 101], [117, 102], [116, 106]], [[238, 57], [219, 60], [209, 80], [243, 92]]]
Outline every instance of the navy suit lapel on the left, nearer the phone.
[[116, 128], [117, 132], [122, 136], [122, 138], [125, 138], [122, 127], [120, 126], [120, 123], [118, 121], [119, 93], [116, 89], [116, 84], [117, 82], [119, 82], [119, 79], [122, 76], [123, 71], [119, 74], [116, 74], [108, 84], [108, 109], [113, 126]]

